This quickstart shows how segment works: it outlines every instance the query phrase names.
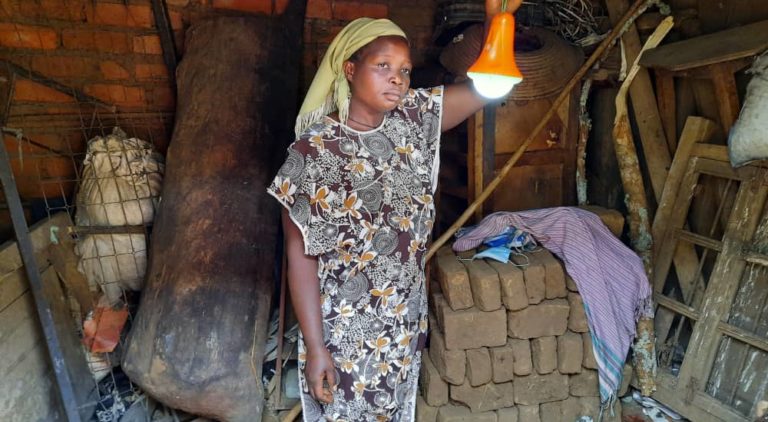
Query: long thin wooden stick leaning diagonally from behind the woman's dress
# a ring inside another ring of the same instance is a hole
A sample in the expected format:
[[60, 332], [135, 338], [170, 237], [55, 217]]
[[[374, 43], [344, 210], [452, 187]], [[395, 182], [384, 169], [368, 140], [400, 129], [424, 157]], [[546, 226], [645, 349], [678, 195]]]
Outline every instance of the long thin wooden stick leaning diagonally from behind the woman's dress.
[[509, 171], [514, 167], [515, 163], [517, 163], [517, 160], [520, 159], [520, 157], [523, 155], [523, 153], [528, 149], [528, 146], [533, 142], [533, 140], [536, 138], [536, 136], [541, 133], [541, 131], [546, 127], [547, 122], [549, 122], [549, 119], [554, 116], [554, 114], [557, 112], [557, 109], [560, 108], [560, 106], [565, 102], [566, 99], [571, 95], [571, 91], [573, 90], [573, 87], [576, 86], [577, 83], [581, 81], [581, 79], [584, 77], [584, 75], [587, 74], [587, 72], [592, 68], [592, 66], [603, 56], [603, 53], [608, 50], [608, 48], [611, 47], [611, 45], [618, 39], [621, 34], [625, 31], [625, 28], [627, 27], [627, 24], [634, 19], [637, 18], [638, 15], [640, 15], [642, 12], [645, 11], [645, 9], [650, 6], [652, 3], [655, 3], [654, 0], [637, 0], [632, 7], [627, 10], [627, 13], [624, 14], [624, 16], [621, 18], [621, 20], [616, 24], [616, 26], [611, 30], [611, 32], [608, 34], [608, 36], [603, 40], [603, 42], [600, 44], [600, 46], [592, 53], [592, 55], [587, 59], [586, 62], [581, 66], [581, 68], [576, 72], [575, 75], [571, 78], [570, 81], [568, 81], [568, 84], [565, 85], [565, 88], [563, 88], [563, 91], [560, 93], [560, 95], [555, 99], [555, 101], [552, 103], [552, 107], [550, 107], [549, 111], [547, 111], [547, 114], [544, 115], [544, 117], [541, 118], [541, 121], [539, 121], [539, 124], [536, 125], [536, 127], [533, 129], [530, 135], [528, 135], [528, 138], [526, 138], [525, 142], [523, 142], [522, 145], [515, 151], [515, 153], [512, 155], [512, 157], [507, 160], [506, 164], [504, 164], [504, 167], [501, 168], [499, 171], [499, 174], [496, 175], [496, 177], [488, 184], [488, 186], [483, 189], [483, 192], [480, 193], [480, 196], [478, 196], [464, 211], [461, 216], [456, 220], [451, 227], [448, 228], [448, 230], [442, 234], [435, 242], [430, 246], [429, 250], [427, 251], [427, 260], [432, 258], [432, 256], [437, 252], [440, 247], [442, 247], [450, 238], [453, 236], [454, 233], [458, 229], [461, 228], [461, 226], [464, 225], [464, 223], [467, 222], [467, 220], [472, 217], [475, 210], [478, 206], [482, 205], [483, 202], [485, 202], [486, 199], [493, 193], [493, 191], [496, 189], [497, 186], [501, 183], [502, 180], [507, 176]]

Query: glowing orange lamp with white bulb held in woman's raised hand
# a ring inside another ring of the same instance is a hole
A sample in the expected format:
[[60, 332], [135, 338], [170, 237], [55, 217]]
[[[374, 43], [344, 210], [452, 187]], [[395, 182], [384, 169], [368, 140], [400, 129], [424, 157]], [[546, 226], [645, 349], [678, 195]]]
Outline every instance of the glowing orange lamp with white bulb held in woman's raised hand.
[[491, 20], [477, 61], [467, 70], [475, 89], [486, 98], [501, 98], [523, 80], [515, 63], [515, 17], [502, 12]]

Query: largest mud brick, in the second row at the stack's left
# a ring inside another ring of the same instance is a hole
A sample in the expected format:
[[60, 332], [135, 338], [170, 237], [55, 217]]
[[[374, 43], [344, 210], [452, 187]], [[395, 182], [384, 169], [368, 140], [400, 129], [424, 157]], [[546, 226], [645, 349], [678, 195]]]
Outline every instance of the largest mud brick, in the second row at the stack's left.
[[477, 308], [463, 311], [443, 309], [443, 324], [448, 350], [496, 347], [507, 343], [507, 315], [504, 309], [493, 312]]

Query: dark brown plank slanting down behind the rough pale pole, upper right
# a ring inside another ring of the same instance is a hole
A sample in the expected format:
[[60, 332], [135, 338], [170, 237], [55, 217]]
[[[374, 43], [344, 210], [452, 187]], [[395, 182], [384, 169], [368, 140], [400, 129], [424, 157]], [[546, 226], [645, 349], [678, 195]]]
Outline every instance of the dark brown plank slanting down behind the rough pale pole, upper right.
[[[615, 24], [629, 8], [628, 0], [606, 0], [606, 8], [611, 22]], [[622, 37], [627, 62], [633, 63], [640, 54], [641, 44], [637, 29], [631, 26]], [[630, 87], [630, 98], [634, 110], [635, 121], [640, 132], [640, 142], [643, 155], [651, 179], [654, 195], [658, 197], [664, 190], [667, 169], [672, 163], [672, 156], [664, 135], [659, 109], [653, 94], [653, 84], [648, 70], [641, 68]]]

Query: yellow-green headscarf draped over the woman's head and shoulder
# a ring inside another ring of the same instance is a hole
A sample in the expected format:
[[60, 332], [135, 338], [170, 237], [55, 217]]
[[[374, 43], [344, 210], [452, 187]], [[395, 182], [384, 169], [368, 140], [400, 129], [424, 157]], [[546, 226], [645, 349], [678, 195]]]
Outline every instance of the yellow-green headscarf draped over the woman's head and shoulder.
[[300, 136], [312, 123], [334, 111], [345, 122], [349, 114], [349, 83], [344, 75], [344, 62], [361, 47], [378, 37], [405, 32], [389, 19], [359, 18], [350, 22], [336, 35], [323, 56], [315, 78], [296, 118], [296, 136]]

